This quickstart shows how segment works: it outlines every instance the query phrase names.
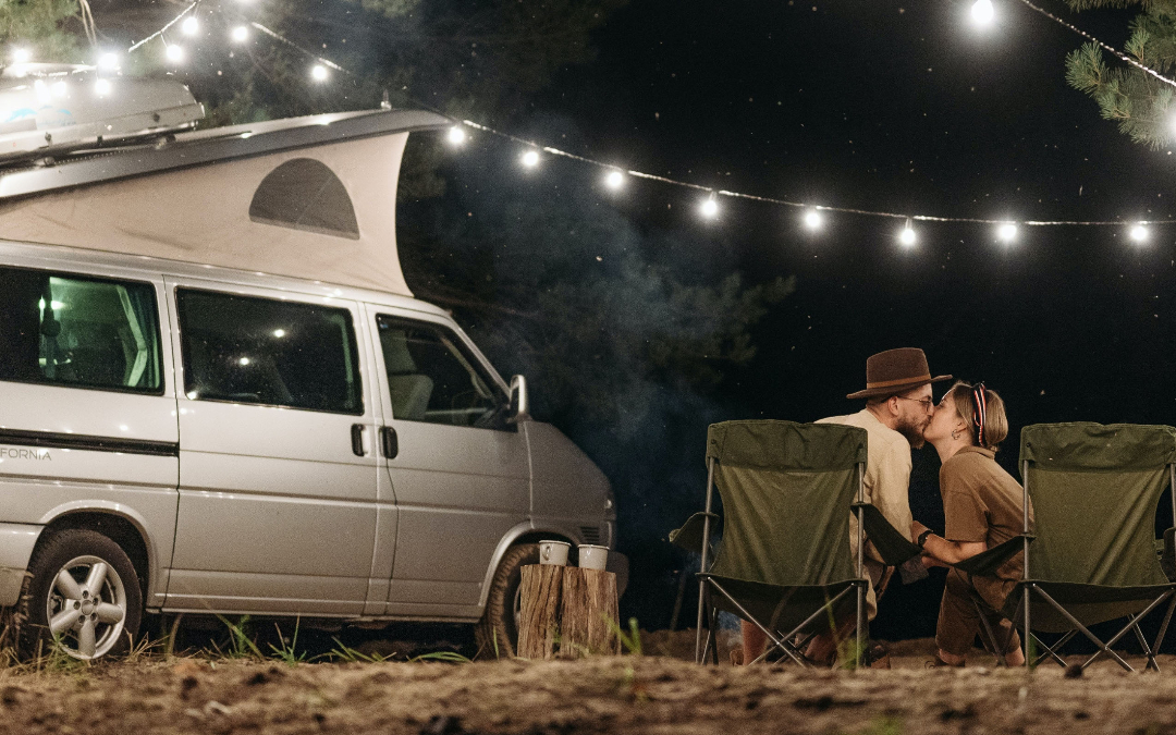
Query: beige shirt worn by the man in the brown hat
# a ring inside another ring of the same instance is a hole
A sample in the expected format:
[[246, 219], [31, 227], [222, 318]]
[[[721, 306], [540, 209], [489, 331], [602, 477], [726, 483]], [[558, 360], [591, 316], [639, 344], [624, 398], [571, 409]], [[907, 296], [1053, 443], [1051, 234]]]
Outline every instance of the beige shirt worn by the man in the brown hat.
[[[866, 456], [864, 485], [866, 502], [876, 507], [910, 540], [910, 442], [898, 432], [888, 428], [877, 417], [863, 408], [848, 416], [830, 416], [817, 423], [842, 423], [866, 429], [869, 435], [869, 447]], [[857, 557], [857, 519], [849, 519], [849, 548]], [[866, 546], [866, 555], [881, 562], [882, 557], [870, 544]]]

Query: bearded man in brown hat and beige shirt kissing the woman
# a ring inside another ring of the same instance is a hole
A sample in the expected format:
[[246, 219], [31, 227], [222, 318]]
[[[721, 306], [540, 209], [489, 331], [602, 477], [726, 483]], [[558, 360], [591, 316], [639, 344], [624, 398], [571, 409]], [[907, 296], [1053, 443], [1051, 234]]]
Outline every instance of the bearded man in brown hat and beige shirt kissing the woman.
[[[869, 435], [866, 474], [862, 479], [866, 502], [874, 505], [890, 524], [908, 533], [911, 523], [908, 487], [910, 485], [910, 449], [923, 446], [923, 428], [931, 420], [935, 407], [931, 383], [950, 380], [936, 375], [927, 366], [927, 355], [915, 347], [888, 349], [870, 355], [866, 361], [866, 389], [850, 393], [848, 399], [866, 399], [866, 408], [847, 416], [831, 416], [817, 423], [842, 423], [866, 429]], [[857, 519], [849, 517], [849, 544], [857, 559]], [[866, 604], [868, 619], [877, 614], [877, 594], [889, 582], [893, 568], [887, 568], [877, 550], [867, 541], [866, 570], [870, 588]], [[847, 624], [853, 626], [850, 620]], [[848, 635], [848, 629], [842, 630]], [[763, 633], [743, 622], [743, 661], [753, 661], [767, 643]], [[818, 662], [833, 656], [830, 635], [817, 636], [807, 655]], [[867, 656], [869, 657], [869, 656]]]

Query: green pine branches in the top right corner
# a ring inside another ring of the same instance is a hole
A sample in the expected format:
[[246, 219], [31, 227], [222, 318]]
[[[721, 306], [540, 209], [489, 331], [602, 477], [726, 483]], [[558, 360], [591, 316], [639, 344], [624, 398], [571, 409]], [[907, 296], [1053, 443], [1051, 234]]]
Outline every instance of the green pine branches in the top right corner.
[[[1069, 5], [1075, 11], [1141, 6], [1124, 53], [1165, 76], [1176, 69], [1176, 0], [1069, 0]], [[1091, 96], [1102, 116], [1118, 122], [1118, 129], [1135, 142], [1160, 148], [1176, 136], [1176, 87], [1135, 66], [1109, 67], [1097, 44], [1085, 44], [1067, 56], [1065, 79]]]

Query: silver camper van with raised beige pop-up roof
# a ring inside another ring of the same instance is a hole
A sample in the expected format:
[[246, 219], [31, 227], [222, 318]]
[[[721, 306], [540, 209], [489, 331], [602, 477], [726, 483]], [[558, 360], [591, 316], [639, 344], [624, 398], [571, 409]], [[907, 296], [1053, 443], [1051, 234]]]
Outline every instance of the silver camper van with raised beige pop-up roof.
[[26, 650], [215, 613], [469, 622], [510, 652], [535, 542], [615, 546], [602, 473], [403, 283], [400, 155], [447, 123], [0, 165], [0, 606]]

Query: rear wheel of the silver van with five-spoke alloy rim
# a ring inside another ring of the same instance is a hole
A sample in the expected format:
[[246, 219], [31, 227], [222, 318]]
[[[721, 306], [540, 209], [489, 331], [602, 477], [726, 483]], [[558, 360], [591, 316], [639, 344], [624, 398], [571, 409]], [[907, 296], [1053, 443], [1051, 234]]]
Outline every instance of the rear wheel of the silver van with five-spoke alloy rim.
[[26, 615], [20, 630], [22, 656], [48, 653], [54, 637], [74, 659], [127, 652], [139, 634], [142, 590], [122, 547], [93, 530], [67, 529], [38, 544], [28, 570], [32, 580], [18, 603]]

